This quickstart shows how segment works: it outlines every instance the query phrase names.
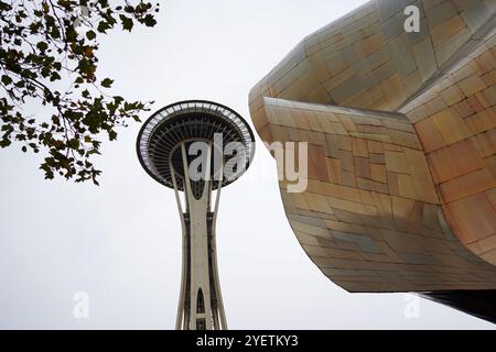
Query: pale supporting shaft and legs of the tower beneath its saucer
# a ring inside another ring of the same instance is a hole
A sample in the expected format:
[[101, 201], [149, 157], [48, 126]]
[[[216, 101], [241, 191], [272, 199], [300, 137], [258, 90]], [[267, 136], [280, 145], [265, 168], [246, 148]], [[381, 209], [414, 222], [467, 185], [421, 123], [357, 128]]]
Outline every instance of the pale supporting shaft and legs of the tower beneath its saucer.
[[[192, 180], [188, 174], [186, 144], [181, 143], [185, 211], [182, 210], [176, 175], [171, 165], [174, 190], [183, 232], [183, 266], [176, 329], [227, 329], [218, 280], [215, 222], [220, 187], [214, 209], [212, 202], [211, 153], [207, 148], [206, 167], [202, 180]], [[171, 162], [172, 163], [172, 162]], [[222, 178], [220, 178], [222, 179]]]

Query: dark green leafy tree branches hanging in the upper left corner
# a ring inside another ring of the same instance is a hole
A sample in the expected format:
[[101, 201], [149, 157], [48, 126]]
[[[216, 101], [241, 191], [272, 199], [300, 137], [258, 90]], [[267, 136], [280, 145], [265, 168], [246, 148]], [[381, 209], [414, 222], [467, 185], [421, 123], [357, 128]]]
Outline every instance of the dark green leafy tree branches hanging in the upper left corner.
[[[45, 153], [45, 178], [98, 185], [90, 157], [100, 153], [99, 135], [116, 140], [116, 129], [151, 103], [107, 92], [114, 80], [97, 77], [98, 37], [119, 24], [154, 26], [158, 11], [145, 1], [0, 0], [0, 146]], [[51, 112], [26, 116], [26, 103]]]

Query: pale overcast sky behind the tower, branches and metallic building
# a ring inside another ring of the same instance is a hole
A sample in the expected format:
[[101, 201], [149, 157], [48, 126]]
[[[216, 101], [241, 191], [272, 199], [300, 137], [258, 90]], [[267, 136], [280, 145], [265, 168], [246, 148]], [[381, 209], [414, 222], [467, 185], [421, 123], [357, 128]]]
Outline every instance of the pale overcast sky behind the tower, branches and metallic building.
[[[154, 110], [207, 99], [250, 121], [249, 89], [303, 36], [364, 2], [170, 0], [154, 29], [101, 42], [99, 76], [116, 78], [115, 94], [154, 100]], [[139, 128], [104, 144], [100, 187], [45, 182], [36, 157], [0, 151], [0, 328], [174, 328], [180, 220], [173, 191], [138, 162]], [[251, 168], [223, 191], [217, 242], [229, 328], [494, 329], [427, 300], [408, 319], [403, 294], [334, 285], [299, 245], [276, 179], [258, 144]], [[88, 319], [73, 316], [77, 292], [89, 295]]]

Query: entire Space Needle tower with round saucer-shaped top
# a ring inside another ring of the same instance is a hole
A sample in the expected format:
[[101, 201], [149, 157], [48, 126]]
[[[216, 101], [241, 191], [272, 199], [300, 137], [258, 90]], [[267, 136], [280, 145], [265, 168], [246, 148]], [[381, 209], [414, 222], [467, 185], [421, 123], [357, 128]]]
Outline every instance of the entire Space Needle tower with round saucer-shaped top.
[[222, 188], [238, 179], [254, 157], [254, 133], [225, 106], [181, 101], [144, 122], [137, 152], [147, 173], [175, 193], [182, 227], [176, 329], [227, 329], [215, 224]]

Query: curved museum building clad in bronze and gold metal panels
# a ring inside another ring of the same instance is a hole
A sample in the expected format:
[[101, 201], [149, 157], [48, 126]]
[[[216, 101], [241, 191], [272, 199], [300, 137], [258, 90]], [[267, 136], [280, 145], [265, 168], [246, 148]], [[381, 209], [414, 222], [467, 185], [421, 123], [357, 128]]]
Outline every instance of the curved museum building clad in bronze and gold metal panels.
[[495, 0], [371, 0], [251, 89], [262, 141], [308, 143], [306, 189], [279, 188], [335, 284], [496, 322], [495, 45]]

